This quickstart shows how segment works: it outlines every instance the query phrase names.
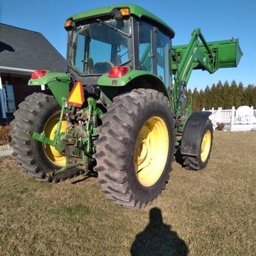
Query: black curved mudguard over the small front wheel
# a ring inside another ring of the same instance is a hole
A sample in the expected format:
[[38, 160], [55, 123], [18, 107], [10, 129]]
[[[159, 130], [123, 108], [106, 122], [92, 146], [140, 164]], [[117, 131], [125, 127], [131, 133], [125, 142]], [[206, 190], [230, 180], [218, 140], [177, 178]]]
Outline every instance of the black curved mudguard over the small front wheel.
[[204, 123], [207, 122], [211, 112], [194, 112], [188, 118], [181, 139], [180, 152], [183, 155], [199, 155], [203, 135]]

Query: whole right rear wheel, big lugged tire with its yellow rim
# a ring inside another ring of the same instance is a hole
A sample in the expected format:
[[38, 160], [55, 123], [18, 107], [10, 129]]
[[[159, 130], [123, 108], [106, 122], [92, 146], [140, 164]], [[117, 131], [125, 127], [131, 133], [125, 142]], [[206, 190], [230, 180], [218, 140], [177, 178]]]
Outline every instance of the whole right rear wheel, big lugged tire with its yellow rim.
[[174, 119], [167, 97], [152, 89], [121, 94], [98, 131], [93, 156], [101, 191], [123, 207], [151, 203], [169, 179], [174, 155]]

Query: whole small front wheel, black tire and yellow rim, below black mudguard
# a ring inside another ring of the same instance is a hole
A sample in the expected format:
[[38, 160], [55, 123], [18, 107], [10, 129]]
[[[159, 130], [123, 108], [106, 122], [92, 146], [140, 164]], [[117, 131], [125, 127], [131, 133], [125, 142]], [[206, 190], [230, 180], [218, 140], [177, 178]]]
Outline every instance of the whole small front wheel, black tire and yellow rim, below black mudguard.
[[[208, 135], [207, 135], [208, 134]], [[205, 137], [208, 137], [208, 147], [205, 148], [207, 152], [203, 154], [202, 147], [203, 147], [203, 140]], [[195, 170], [199, 171], [203, 168], [205, 168], [208, 164], [209, 158], [210, 158], [210, 152], [212, 151], [212, 143], [213, 143], [213, 127], [212, 122], [210, 119], [207, 119], [207, 121], [204, 123], [203, 133], [200, 138], [200, 152], [197, 156], [189, 156], [185, 155], [183, 156], [183, 166], [188, 170]]]

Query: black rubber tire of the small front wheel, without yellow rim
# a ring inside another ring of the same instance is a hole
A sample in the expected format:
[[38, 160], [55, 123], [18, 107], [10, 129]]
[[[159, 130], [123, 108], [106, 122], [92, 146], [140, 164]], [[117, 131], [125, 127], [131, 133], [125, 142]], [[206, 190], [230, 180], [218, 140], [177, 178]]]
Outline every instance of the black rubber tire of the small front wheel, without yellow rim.
[[212, 151], [212, 143], [213, 143], [213, 127], [212, 127], [212, 122], [210, 121], [210, 119], [207, 119], [207, 121], [204, 123], [203, 133], [201, 134], [201, 138], [200, 138], [200, 148], [201, 148], [201, 144], [203, 142], [204, 134], [207, 131], [210, 131], [210, 150], [209, 150], [207, 159], [204, 162], [202, 161], [201, 152], [199, 152], [199, 155], [197, 155], [197, 156], [184, 155], [183, 156], [183, 160], [184, 160], [183, 166], [186, 169], [199, 171], [199, 170], [204, 169], [207, 166], [208, 161], [210, 159], [210, 152]]

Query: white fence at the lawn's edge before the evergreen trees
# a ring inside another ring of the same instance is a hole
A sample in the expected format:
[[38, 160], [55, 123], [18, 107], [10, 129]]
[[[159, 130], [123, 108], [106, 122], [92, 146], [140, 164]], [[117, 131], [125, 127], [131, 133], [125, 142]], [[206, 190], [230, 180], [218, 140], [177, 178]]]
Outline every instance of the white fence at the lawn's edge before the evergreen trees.
[[218, 108], [217, 110], [214, 108], [205, 110], [203, 108], [203, 111], [212, 112], [209, 118], [212, 120], [213, 126], [217, 126], [217, 123], [230, 125], [256, 124], [256, 109], [253, 109], [253, 106], [251, 108], [249, 106], [241, 106], [238, 109], [235, 109], [233, 106], [232, 109]]

